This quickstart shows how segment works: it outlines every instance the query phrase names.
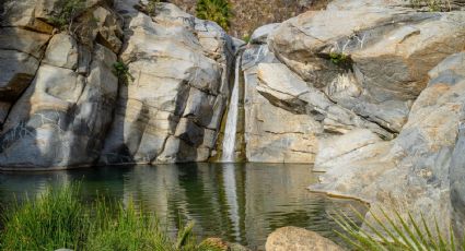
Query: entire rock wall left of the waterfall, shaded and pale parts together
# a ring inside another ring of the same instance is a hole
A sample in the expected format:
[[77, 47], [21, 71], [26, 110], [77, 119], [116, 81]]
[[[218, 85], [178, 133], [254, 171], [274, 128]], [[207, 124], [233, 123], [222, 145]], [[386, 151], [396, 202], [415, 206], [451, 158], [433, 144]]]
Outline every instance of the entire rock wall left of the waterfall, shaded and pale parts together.
[[86, 1], [59, 32], [48, 23], [57, 2], [2, 3], [1, 168], [207, 160], [229, 96], [231, 38], [168, 3], [152, 19], [138, 1]]

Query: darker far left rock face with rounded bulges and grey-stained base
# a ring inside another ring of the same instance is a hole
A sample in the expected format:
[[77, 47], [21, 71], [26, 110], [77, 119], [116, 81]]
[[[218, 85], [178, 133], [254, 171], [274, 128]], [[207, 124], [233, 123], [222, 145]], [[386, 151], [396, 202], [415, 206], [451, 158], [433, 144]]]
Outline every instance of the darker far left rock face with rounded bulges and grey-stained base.
[[90, 165], [112, 121], [120, 24], [105, 1], [93, 1], [75, 20], [73, 36], [51, 34], [47, 10], [55, 3], [3, 3], [0, 165], [5, 169]]

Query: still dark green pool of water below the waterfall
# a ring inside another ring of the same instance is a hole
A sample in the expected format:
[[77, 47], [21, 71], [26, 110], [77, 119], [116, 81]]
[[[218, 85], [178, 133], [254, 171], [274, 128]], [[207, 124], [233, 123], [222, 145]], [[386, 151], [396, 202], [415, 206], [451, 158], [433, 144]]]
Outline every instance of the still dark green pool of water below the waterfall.
[[48, 184], [81, 181], [83, 196], [105, 194], [156, 212], [170, 231], [194, 220], [200, 237], [222, 237], [263, 250], [266, 237], [283, 226], [304, 227], [338, 241], [328, 216], [351, 212], [350, 200], [329, 199], [306, 188], [317, 176], [309, 165], [186, 164], [100, 167], [39, 174], [0, 174], [0, 203], [35, 196]]

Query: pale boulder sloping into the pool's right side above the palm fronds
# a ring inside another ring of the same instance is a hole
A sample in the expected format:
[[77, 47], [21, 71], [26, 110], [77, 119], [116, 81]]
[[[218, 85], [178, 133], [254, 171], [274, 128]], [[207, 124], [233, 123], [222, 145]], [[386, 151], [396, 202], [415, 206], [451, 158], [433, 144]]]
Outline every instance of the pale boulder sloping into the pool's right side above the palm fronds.
[[[465, 52], [430, 71], [398, 138], [376, 143], [364, 159], [335, 163], [311, 189], [394, 207], [463, 230]], [[460, 133], [461, 132], [461, 133]], [[458, 139], [458, 141], [457, 141]]]

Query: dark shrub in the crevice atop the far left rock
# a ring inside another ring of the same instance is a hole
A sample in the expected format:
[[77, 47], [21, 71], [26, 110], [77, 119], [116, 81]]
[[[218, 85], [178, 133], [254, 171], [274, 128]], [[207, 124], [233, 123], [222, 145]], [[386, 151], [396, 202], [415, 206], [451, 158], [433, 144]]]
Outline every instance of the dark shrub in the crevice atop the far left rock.
[[48, 22], [59, 29], [71, 31], [73, 20], [85, 9], [85, 0], [59, 0]]

